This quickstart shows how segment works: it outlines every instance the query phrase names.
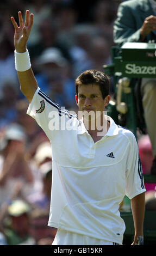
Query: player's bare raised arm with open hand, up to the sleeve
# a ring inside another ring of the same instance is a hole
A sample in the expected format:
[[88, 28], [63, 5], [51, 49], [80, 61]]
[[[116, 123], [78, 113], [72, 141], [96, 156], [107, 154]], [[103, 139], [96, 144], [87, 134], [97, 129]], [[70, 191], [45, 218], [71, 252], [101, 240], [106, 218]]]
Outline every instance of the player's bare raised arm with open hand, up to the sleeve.
[[[25, 54], [27, 51], [27, 41], [33, 26], [33, 14], [29, 15], [29, 10], [27, 10], [26, 19], [25, 19], [25, 22], [23, 22], [21, 11], [18, 11], [18, 19], [19, 19], [19, 25], [20, 25], [19, 27], [14, 17], [11, 17], [11, 22], [13, 23], [15, 28], [14, 46], [15, 46], [15, 54], [18, 62], [16, 70], [17, 70], [18, 80], [20, 82], [21, 92], [24, 94], [24, 96], [26, 96], [27, 100], [31, 102], [33, 99], [33, 95], [36, 89], [38, 88], [38, 84], [36, 82], [32, 68], [30, 68], [30, 65], [27, 65], [28, 53], [27, 55]], [[23, 66], [23, 69], [24, 69], [22, 71], [19, 71], [20, 62], [21, 62], [21, 66]], [[23, 65], [22, 62], [26, 62], [26, 63], [24, 63]]]

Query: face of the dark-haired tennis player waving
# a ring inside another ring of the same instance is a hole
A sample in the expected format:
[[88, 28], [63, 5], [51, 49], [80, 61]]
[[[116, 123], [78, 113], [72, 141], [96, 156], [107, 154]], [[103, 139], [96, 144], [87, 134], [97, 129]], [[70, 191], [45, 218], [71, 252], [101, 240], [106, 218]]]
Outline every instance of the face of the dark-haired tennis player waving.
[[76, 97], [79, 111], [100, 111], [103, 113], [109, 103], [110, 96], [103, 99], [101, 90], [97, 84], [87, 84], [78, 87], [78, 99]]

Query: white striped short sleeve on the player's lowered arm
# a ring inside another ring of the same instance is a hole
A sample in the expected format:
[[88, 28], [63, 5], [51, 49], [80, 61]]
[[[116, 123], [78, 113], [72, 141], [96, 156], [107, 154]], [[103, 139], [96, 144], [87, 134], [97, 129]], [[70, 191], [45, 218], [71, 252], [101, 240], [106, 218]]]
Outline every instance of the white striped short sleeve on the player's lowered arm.
[[133, 134], [129, 137], [130, 145], [126, 166], [126, 196], [132, 199], [138, 194], [145, 192], [146, 189], [143, 180], [138, 143]]

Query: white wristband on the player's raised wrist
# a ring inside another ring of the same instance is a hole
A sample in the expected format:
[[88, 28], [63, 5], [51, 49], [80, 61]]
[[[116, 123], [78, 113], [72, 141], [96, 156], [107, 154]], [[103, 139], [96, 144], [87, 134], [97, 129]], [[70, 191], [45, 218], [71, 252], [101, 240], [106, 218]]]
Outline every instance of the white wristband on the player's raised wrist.
[[15, 69], [17, 71], [26, 71], [31, 68], [30, 57], [28, 50], [20, 53], [15, 50]]

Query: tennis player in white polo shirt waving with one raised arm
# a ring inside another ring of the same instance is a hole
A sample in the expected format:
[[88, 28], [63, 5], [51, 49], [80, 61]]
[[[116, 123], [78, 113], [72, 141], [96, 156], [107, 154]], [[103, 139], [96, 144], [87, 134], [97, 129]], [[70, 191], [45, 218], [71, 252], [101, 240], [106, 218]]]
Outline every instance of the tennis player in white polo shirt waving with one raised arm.
[[82, 118], [61, 109], [35, 80], [27, 50], [33, 14], [20, 27], [14, 17], [15, 65], [27, 114], [45, 131], [52, 146], [53, 177], [48, 225], [58, 229], [53, 245], [122, 245], [125, 224], [118, 211], [125, 194], [134, 218], [134, 241], [143, 236], [145, 186], [133, 133], [104, 114], [109, 78], [87, 70], [76, 79]]

